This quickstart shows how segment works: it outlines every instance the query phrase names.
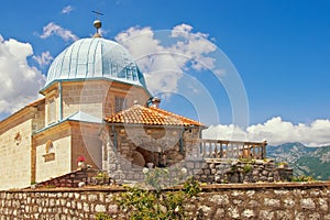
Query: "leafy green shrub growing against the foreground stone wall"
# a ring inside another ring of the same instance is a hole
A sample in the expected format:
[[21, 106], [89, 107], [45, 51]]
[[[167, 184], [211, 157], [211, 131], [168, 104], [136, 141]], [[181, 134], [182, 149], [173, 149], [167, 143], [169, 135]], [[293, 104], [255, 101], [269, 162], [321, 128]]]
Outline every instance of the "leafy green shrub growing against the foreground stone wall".
[[201, 191], [199, 182], [188, 178], [182, 189], [162, 188], [167, 169], [155, 168], [145, 173], [145, 184], [152, 188], [127, 187], [116, 200], [131, 220], [185, 219], [184, 204]]

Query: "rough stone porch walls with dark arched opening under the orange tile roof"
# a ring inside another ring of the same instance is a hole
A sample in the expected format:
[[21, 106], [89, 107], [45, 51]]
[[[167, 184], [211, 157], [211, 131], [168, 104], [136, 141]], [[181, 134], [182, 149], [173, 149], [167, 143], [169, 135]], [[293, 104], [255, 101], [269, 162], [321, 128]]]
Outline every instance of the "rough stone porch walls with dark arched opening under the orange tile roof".
[[186, 140], [197, 139], [200, 128], [113, 125], [102, 131], [102, 169], [117, 183], [141, 182], [143, 167], [182, 166], [190, 148]]

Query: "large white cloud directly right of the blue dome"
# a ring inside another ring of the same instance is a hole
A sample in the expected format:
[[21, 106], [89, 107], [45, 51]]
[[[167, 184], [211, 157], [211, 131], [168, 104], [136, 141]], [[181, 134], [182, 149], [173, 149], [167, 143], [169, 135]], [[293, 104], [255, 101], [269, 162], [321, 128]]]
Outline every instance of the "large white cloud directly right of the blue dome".
[[185, 72], [215, 68], [215, 58], [208, 56], [217, 46], [208, 34], [193, 33], [193, 26], [180, 24], [168, 31], [151, 28], [130, 28], [116, 40], [125, 46], [144, 73], [153, 94], [176, 92]]

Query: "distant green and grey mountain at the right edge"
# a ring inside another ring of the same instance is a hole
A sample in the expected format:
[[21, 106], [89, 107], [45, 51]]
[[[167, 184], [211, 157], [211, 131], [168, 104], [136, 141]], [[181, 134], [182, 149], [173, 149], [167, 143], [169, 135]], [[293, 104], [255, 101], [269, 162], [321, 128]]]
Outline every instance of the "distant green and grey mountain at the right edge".
[[319, 180], [330, 179], [330, 145], [305, 146], [299, 142], [267, 146], [267, 157], [276, 162], [287, 162], [294, 175], [312, 176]]

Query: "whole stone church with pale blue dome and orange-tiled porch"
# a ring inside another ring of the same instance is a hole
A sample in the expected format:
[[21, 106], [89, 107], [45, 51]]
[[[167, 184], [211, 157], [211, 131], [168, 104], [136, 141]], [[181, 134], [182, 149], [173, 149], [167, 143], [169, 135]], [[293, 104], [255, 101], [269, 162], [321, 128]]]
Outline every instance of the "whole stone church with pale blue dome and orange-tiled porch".
[[141, 167], [183, 160], [185, 140], [205, 129], [160, 109], [134, 58], [98, 32], [53, 61], [40, 94], [0, 122], [0, 189], [68, 174], [77, 160], [113, 178], [134, 178]]

